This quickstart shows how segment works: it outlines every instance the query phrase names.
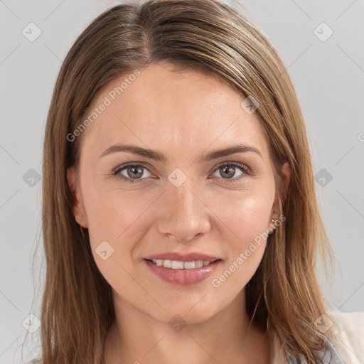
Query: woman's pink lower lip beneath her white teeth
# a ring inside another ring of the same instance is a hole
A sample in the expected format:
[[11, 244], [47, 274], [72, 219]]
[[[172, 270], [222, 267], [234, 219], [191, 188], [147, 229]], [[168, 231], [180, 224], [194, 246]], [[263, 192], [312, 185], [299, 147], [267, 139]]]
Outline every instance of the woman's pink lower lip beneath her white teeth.
[[196, 284], [202, 282], [204, 279], [208, 278], [210, 274], [213, 273], [218, 264], [219, 260], [215, 260], [205, 267], [195, 268], [195, 269], [171, 269], [166, 267], [159, 267], [148, 259], [144, 259], [146, 265], [151, 269], [151, 272], [156, 274], [159, 278], [163, 279], [168, 283], [173, 284]]

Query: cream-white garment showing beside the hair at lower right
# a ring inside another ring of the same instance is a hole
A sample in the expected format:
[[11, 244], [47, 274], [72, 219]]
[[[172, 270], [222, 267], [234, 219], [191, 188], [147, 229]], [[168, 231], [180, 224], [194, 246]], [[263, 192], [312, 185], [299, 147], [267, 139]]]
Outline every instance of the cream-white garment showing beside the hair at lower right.
[[[345, 364], [364, 364], [364, 312], [330, 312], [332, 330], [336, 338], [331, 341], [333, 347]], [[279, 341], [277, 333], [271, 336], [272, 364], [289, 364], [286, 352]], [[292, 362], [291, 362], [292, 363]], [[337, 363], [331, 360], [330, 363]]]

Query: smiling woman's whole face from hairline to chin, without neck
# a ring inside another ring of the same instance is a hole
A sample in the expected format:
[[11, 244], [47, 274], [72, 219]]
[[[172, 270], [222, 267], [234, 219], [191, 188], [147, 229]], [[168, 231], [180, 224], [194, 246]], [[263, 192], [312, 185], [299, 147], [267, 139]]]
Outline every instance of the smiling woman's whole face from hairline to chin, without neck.
[[[80, 136], [79, 184], [73, 168], [68, 180], [117, 300], [159, 321], [198, 322], [231, 304], [257, 270], [277, 196], [257, 112], [219, 80], [171, 67], [141, 69], [120, 95], [112, 90], [125, 76], [100, 91], [95, 107], [109, 105]], [[215, 153], [238, 144], [251, 149]]]

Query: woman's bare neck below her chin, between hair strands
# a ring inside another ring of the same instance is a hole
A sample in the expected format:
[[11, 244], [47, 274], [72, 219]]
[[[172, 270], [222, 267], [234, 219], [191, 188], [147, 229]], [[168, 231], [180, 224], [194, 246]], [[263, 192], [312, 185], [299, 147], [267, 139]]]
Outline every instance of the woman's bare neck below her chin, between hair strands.
[[269, 363], [269, 338], [250, 323], [245, 289], [209, 319], [188, 323], [175, 317], [174, 326], [139, 311], [115, 293], [114, 307], [116, 320], [107, 334], [105, 364]]

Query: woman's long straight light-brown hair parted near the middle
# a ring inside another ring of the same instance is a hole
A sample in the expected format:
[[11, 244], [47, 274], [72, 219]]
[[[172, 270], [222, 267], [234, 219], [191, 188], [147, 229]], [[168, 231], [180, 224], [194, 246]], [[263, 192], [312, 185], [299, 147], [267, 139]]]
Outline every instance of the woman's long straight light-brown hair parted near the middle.
[[[327, 312], [316, 257], [319, 252], [326, 267], [332, 251], [316, 200], [304, 118], [287, 69], [267, 36], [218, 0], [119, 4], [95, 18], [65, 57], [43, 150], [42, 363], [102, 363], [115, 319], [112, 287], [95, 264], [87, 229], [75, 221], [66, 176], [70, 166], [77, 172], [85, 133], [74, 141], [68, 135], [108, 82], [161, 61], [174, 65], [173, 72], [195, 70], [218, 77], [259, 102], [256, 112], [269, 142], [279, 213], [286, 220], [267, 238], [242, 309], [264, 331], [275, 331], [295, 358], [303, 355], [308, 363], [317, 363], [321, 341], [313, 323]], [[286, 161], [291, 177], [283, 199], [281, 168]]]

